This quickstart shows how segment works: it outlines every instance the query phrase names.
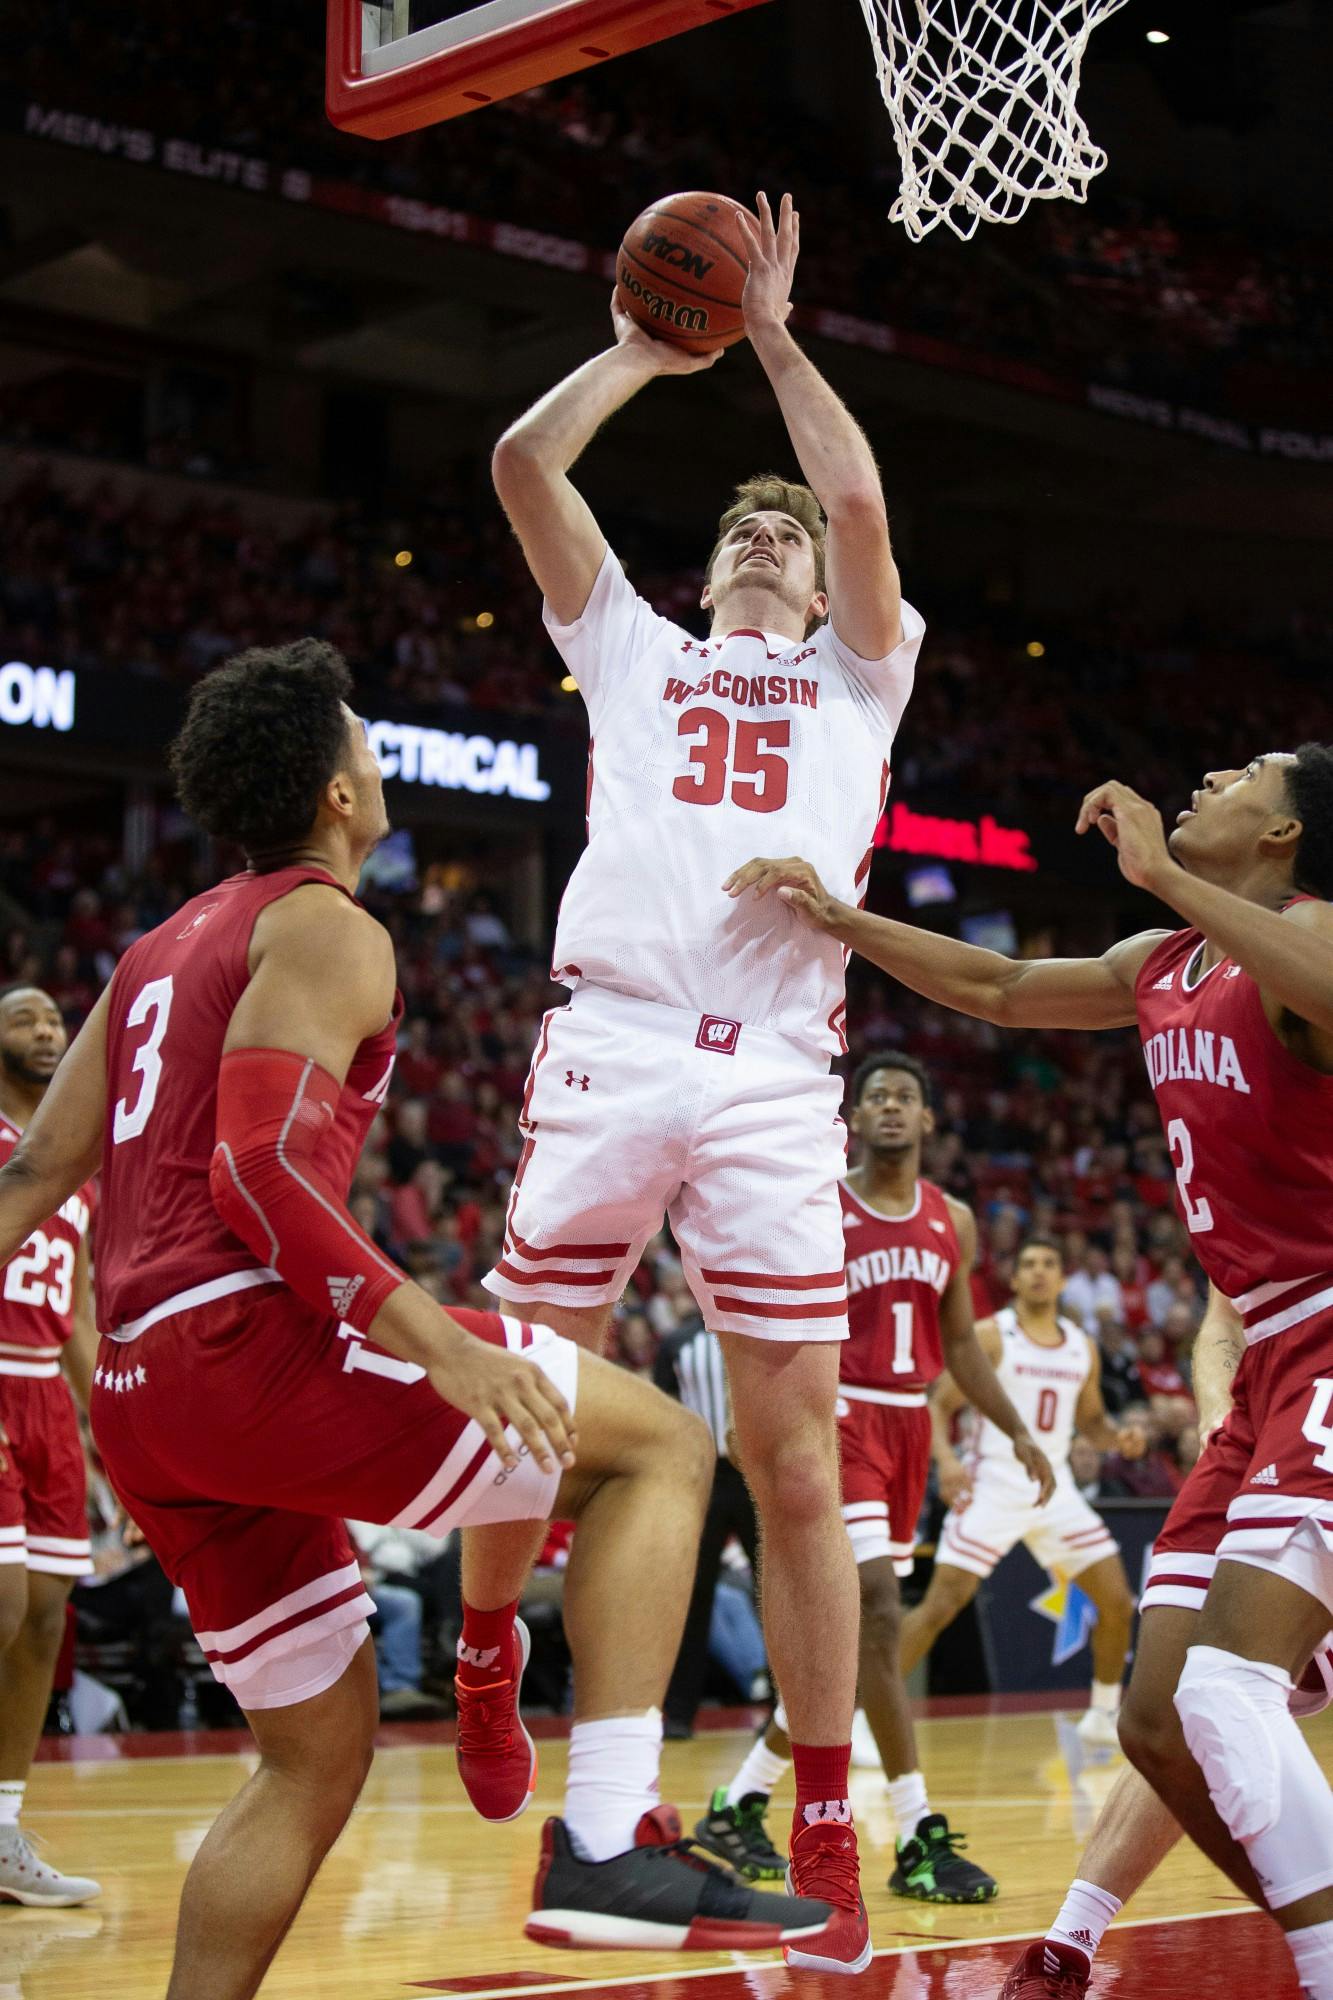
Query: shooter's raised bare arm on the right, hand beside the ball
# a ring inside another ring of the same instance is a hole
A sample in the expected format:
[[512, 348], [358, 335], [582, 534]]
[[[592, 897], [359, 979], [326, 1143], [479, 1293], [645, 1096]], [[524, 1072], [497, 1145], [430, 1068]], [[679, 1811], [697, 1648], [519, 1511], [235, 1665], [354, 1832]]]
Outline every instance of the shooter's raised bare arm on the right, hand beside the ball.
[[759, 218], [745, 208], [737, 218], [751, 252], [741, 298], [745, 330], [807, 484], [829, 518], [825, 580], [833, 626], [863, 660], [883, 660], [903, 638], [903, 588], [875, 454], [847, 404], [787, 332], [801, 218], [791, 194], [783, 196], [777, 218], [767, 194], [759, 196]]

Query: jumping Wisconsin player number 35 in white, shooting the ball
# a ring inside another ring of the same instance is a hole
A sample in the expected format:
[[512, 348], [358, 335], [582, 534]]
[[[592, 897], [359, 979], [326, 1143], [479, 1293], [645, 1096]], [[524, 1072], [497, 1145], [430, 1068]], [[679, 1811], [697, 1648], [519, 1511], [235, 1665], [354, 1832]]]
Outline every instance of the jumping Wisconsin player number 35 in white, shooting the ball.
[[[809, 484], [757, 478], [737, 490], [707, 562], [707, 640], [634, 592], [568, 474], [630, 396], [717, 356], [683, 354], [614, 312], [614, 346], [494, 452], [594, 754], [588, 846], [556, 928], [554, 974], [572, 1000], [542, 1026], [504, 1256], [482, 1282], [596, 1348], [669, 1214], [727, 1352], [763, 1524], [769, 1658], [797, 1768], [793, 1880], [845, 1916], [837, 1938], [791, 1962], [859, 1972], [871, 1944], [847, 1802], [857, 1572], [835, 1424], [843, 1086], [829, 1074], [845, 1046], [845, 956], [779, 902], [737, 906], [723, 884], [763, 824], [809, 842], [843, 896], [861, 892], [923, 622], [901, 598], [871, 448], [787, 332], [791, 198], [775, 218], [761, 196], [743, 228], [745, 330]], [[502, 1558], [492, 1546], [482, 1556], [476, 1538], [464, 1550], [462, 1644], [468, 1660], [498, 1658], [492, 1682], [460, 1676], [462, 1714], [484, 1700], [496, 1746], [512, 1740], [512, 1608], [530, 1556], [530, 1534], [510, 1534]], [[660, 1716], [644, 1716], [644, 1746], [658, 1732]], [[502, 1818], [526, 1764], [498, 1748], [486, 1758], [478, 1730], [470, 1742], [464, 1782]]]

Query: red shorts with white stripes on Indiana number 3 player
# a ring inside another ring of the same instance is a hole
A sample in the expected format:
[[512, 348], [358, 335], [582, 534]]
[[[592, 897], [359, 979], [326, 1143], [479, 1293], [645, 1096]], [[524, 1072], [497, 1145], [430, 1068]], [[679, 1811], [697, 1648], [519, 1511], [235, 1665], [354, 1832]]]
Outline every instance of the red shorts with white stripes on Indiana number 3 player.
[[[574, 1404], [572, 1342], [492, 1312], [456, 1318], [526, 1350]], [[320, 1694], [362, 1644], [374, 1606], [344, 1520], [434, 1536], [546, 1520], [560, 1480], [526, 1452], [504, 1472], [480, 1424], [440, 1402], [420, 1368], [286, 1286], [216, 1296], [136, 1340], [102, 1340], [92, 1428], [242, 1708]]]

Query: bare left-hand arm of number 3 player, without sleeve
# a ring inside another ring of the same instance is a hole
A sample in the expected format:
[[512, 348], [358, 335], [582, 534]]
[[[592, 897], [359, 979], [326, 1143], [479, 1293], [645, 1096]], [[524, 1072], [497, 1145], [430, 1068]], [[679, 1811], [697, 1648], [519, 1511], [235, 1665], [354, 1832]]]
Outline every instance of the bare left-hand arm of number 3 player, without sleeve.
[[106, 1010], [104, 992], [74, 1036], [24, 1136], [0, 1166], [0, 1264], [8, 1264], [32, 1230], [54, 1216], [102, 1164]]

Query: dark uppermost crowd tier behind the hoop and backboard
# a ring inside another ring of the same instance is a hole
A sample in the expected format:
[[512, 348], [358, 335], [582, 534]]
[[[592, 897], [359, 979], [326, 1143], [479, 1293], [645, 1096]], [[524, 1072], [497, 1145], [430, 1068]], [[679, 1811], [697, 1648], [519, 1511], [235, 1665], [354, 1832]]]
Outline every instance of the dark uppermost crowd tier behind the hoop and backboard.
[[[80, 110], [574, 240], [604, 236], [608, 186], [626, 222], [671, 184], [791, 188], [809, 304], [1269, 422], [1309, 414], [1333, 330], [1327, 246], [1175, 226], [1099, 182], [1087, 208], [1037, 204], [989, 232], [985, 254], [947, 230], [907, 252], [887, 222], [893, 154], [867, 170], [847, 130], [795, 104], [773, 118], [763, 88], [735, 92], [709, 66], [654, 96], [612, 64], [374, 146], [324, 120], [308, 22], [220, 16], [224, 66], [168, 0], [144, 0], [90, 72], [78, 8], [54, 0], [12, 64], [16, 116], [28, 100]], [[1303, 372], [1305, 392], [1291, 380]]]

